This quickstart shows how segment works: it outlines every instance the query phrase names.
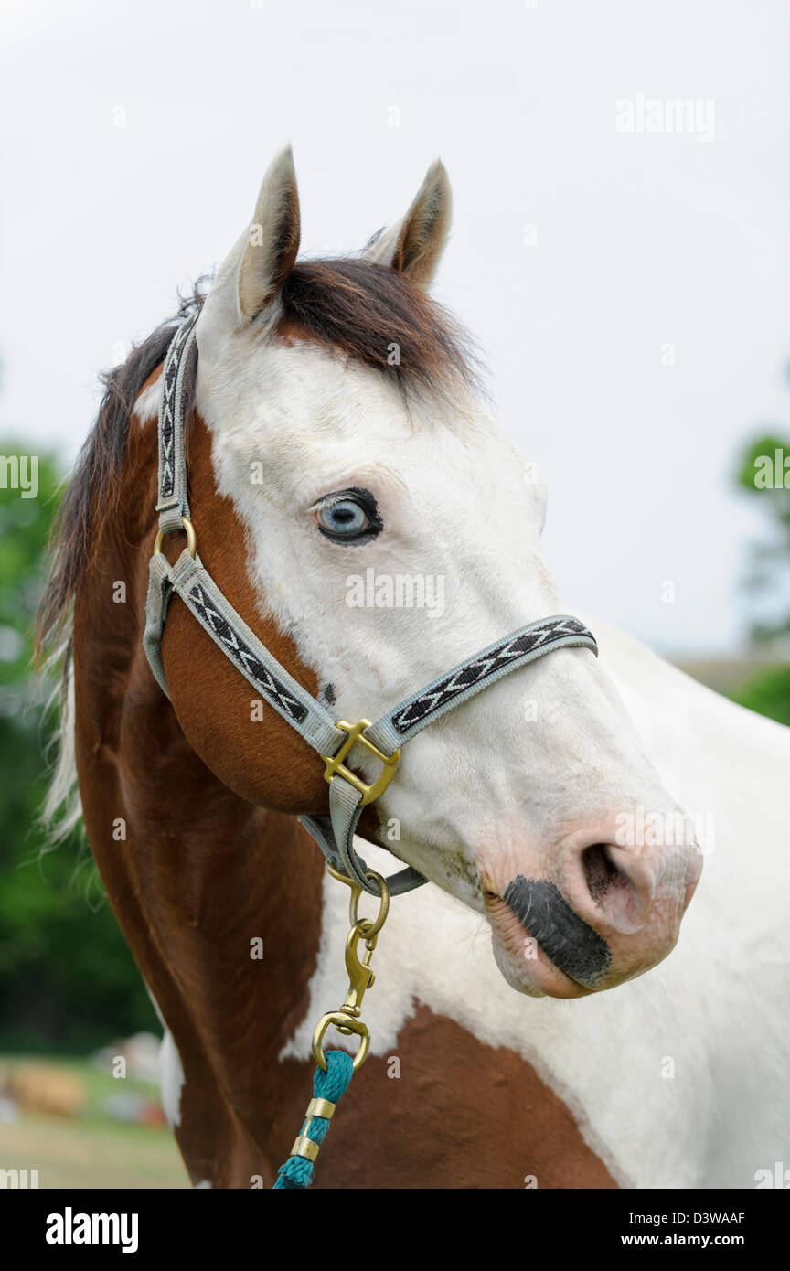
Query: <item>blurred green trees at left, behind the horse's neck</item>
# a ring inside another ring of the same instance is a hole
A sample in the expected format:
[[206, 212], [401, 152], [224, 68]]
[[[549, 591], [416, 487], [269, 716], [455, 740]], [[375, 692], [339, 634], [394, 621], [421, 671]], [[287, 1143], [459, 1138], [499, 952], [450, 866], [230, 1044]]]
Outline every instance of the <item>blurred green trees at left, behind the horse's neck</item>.
[[23, 497], [29, 450], [0, 449], [0, 1047], [79, 1054], [157, 1026], [88, 846], [75, 833], [46, 850], [38, 825], [53, 684], [32, 672], [32, 628], [58, 473], [39, 455]]

